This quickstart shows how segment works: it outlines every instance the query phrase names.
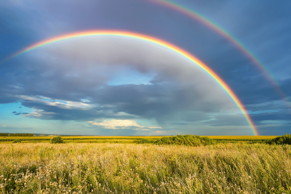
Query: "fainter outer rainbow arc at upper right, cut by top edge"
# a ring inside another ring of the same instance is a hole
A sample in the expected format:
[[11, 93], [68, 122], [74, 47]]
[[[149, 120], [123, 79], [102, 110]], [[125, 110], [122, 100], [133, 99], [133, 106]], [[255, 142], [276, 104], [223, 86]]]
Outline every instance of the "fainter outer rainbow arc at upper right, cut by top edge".
[[277, 90], [278, 94], [288, 102], [286, 95], [283, 93], [282, 89], [279, 87], [279, 84], [277, 81], [271, 76], [269, 71], [264, 67], [263, 63], [260, 61], [258, 57], [253, 54], [253, 52], [250, 51], [242, 42], [240, 42], [233, 34], [228, 32], [226, 29], [223, 29], [222, 27], [218, 26], [214, 22], [212, 22], [210, 19], [208, 19], [206, 16], [191, 10], [181, 4], [174, 3], [170, 0], [147, 0], [152, 3], [155, 3], [160, 6], [164, 6], [166, 8], [170, 8], [172, 10], [178, 11], [192, 19], [195, 19], [199, 21], [200, 23], [204, 24], [205, 26], [209, 27], [213, 31], [219, 33], [221, 36], [223, 36], [226, 40], [230, 41], [239, 49], [249, 60], [257, 66], [257, 68], [262, 72], [262, 74], [270, 81], [270, 83], [273, 85], [273, 87]]

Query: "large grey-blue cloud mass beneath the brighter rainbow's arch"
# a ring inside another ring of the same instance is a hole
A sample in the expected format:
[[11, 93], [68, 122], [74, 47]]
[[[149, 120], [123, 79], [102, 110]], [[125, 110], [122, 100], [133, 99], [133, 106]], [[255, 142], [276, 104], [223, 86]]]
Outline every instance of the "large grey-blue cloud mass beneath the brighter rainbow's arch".
[[[18, 70], [7, 70], [10, 78], [3, 78], [1, 95], [36, 110], [27, 117], [76, 121], [153, 118], [163, 123], [237, 110], [226, 92], [195, 64], [142, 41], [77, 38], [41, 47], [15, 60]], [[126, 80], [136, 72], [150, 75], [150, 84], [107, 85], [116, 76]], [[191, 111], [196, 114], [189, 115]]]

